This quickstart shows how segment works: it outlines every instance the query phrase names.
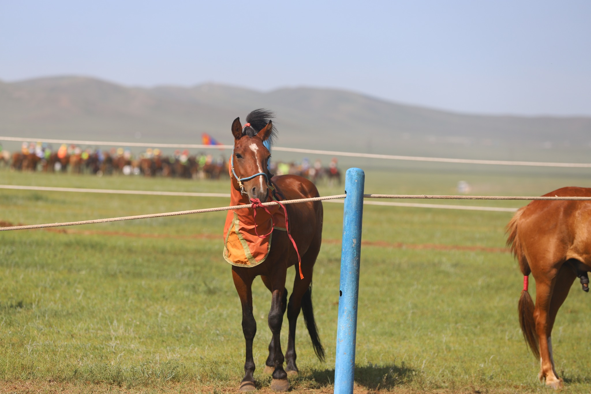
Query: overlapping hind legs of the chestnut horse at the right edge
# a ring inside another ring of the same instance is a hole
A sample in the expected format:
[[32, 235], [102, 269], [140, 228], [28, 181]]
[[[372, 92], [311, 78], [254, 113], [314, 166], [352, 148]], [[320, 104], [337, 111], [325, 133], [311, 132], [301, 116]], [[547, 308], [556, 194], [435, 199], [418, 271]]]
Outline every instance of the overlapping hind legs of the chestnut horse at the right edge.
[[[554, 363], [552, 360], [552, 340], [551, 332], [554, 318], [558, 308], [564, 302], [566, 294], [564, 293], [564, 282], [569, 279], [565, 269], [568, 267], [561, 267], [560, 271], [552, 270], [550, 274], [543, 275], [543, 278], [535, 278], [535, 331], [538, 334], [538, 342], [540, 344], [540, 379], [545, 378], [546, 385], [554, 389], [562, 387], [562, 379], [556, 376], [554, 370]], [[552, 275], [554, 273], [554, 275]], [[552, 277], [554, 276], [554, 277]], [[534, 276], [535, 277], [535, 276]], [[574, 279], [573, 279], [574, 280]], [[570, 281], [572, 284], [572, 281]], [[556, 288], [556, 299], [553, 297], [554, 289]], [[554, 307], [554, 308], [551, 308]], [[554, 314], [552, 313], [554, 312]]]

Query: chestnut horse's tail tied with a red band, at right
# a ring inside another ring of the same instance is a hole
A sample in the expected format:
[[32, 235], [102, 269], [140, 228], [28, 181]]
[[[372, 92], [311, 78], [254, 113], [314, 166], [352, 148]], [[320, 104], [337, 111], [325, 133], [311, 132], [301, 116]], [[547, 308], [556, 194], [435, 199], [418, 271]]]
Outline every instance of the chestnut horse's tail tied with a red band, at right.
[[527, 277], [530, 275], [531, 269], [527, 258], [525, 258], [525, 253], [523, 252], [517, 231], [519, 218], [524, 209], [525, 207], [519, 209], [509, 224], [507, 224], [507, 246], [509, 246], [509, 249], [511, 249], [511, 252], [519, 262], [519, 268], [521, 268], [521, 273], [524, 275], [524, 288], [521, 291], [521, 297], [519, 297], [519, 304], [517, 307], [519, 312], [519, 325], [521, 325], [521, 331], [525, 338], [525, 342], [530, 346], [534, 356], [539, 359], [540, 350], [538, 349], [538, 336], [535, 333], [534, 301], [532, 301], [530, 293], [527, 291]]

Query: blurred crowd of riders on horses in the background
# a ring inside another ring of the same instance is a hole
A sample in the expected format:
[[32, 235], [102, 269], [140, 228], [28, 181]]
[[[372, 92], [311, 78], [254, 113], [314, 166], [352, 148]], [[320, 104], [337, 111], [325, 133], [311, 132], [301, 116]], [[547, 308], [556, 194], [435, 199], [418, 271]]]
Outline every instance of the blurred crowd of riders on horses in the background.
[[[93, 175], [144, 175], [146, 177], [178, 177], [190, 179], [219, 179], [228, 177], [228, 158], [223, 155], [195, 154], [177, 149], [165, 155], [156, 148], [148, 148], [139, 155], [130, 149], [81, 148], [77, 145], [62, 144], [54, 149], [42, 142], [23, 142], [20, 152], [12, 154], [0, 145], [0, 167], [13, 171], [69, 172]], [[301, 162], [271, 162], [269, 170], [275, 175], [296, 174], [314, 183], [326, 181], [329, 184], [341, 182], [337, 159], [333, 158], [327, 167], [319, 159], [313, 163], [304, 158]]]

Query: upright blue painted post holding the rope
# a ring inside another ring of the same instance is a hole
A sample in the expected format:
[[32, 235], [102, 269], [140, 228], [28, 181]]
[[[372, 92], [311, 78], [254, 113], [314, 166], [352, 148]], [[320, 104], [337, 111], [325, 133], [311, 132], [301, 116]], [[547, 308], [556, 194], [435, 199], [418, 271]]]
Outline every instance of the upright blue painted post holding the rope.
[[349, 168], [345, 175], [345, 211], [340, 258], [339, 321], [336, 333], [335, 394], [352, 394], [355, 376], [357, 298], [361, 258], [361, 224], [365, 173]]

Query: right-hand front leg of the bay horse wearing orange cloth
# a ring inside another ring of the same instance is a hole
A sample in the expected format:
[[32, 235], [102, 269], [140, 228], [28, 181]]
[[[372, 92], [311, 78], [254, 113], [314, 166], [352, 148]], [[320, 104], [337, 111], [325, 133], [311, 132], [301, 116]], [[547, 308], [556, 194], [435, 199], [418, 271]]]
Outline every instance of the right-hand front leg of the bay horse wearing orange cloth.
[[[283, 293], [285, 290], [285, 271], [287, 268], [277, 267], [271, 279], [271, 310], [269, 311], [269, 328], [271, 328], [273, 364], [275, 370], [272, 374], [271, 389], [275, 391], [287, 391], [290, 384], [287, 381], [287, 373], [283, 369], [283, 352], [281, 351], [281, 325], [283, 324], [284, 308], [282, 307]], [[269, 346], [271, 348], [271, 346]]]

